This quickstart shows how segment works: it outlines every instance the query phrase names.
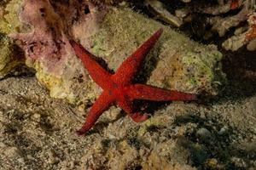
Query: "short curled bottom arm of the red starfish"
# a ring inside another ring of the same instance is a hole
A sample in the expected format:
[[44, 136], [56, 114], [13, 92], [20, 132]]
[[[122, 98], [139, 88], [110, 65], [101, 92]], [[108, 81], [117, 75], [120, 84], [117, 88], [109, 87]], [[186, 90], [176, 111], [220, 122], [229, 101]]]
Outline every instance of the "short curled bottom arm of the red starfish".
[[127, 113], [128, 116], [131, 117], [131, 119], [134, 122], [143, 122], [148, 119], [147, 115], [142, 115], [140, 113], [134, 113], [132, 110], [132, 102], [128, 99], [118, 101], [117, 104], [119, 105], [120, 108], [122, 108]]

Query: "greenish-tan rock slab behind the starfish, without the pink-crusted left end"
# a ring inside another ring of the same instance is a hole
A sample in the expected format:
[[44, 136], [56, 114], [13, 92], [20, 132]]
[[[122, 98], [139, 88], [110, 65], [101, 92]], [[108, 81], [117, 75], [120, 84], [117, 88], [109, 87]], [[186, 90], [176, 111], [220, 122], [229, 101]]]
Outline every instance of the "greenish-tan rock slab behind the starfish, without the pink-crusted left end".
[[[147, 28], [142, 29], [143, 23], [148, 23]], [[125, 59], [125, 54], [131, 54], [159, 27], [164, 27], [165, 31], [146, 58], [139, 78], [148, 78], [148, 84], [160, 88], [192, 94], [218, 94], [224, 83], [224, 73], [219, 62], [222, 54], [216, 47], [191, 41], [183, 34], [130, 10], [108, 12], [102, 23], [104, 29], [92, 37], [91, 52], [107, 60], [108, 66], [115, 71]]]

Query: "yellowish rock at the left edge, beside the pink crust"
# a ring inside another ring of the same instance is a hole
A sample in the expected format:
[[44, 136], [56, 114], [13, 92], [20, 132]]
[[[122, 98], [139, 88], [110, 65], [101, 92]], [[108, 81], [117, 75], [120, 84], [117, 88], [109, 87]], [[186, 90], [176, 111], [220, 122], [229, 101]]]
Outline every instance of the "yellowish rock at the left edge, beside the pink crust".
[[24, 55], [7, 36], [22, 26], [19, 20], [21, 0], [0, 2], [0, 79], [14, 71], [25, 61]]

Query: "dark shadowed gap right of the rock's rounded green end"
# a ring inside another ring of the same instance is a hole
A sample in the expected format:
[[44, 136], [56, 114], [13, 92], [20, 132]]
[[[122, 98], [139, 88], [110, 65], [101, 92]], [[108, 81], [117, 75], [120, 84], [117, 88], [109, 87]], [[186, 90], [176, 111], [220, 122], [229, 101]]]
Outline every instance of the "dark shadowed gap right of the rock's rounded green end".
[[223, 51], [223, 71], [227, 75], [224, 91], [203, 104], [236, 101], [256, 94], [256, 51], [249, 52], [241, 48], [236, 52]]

